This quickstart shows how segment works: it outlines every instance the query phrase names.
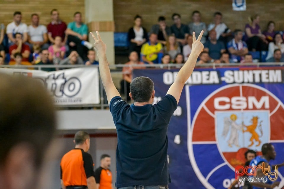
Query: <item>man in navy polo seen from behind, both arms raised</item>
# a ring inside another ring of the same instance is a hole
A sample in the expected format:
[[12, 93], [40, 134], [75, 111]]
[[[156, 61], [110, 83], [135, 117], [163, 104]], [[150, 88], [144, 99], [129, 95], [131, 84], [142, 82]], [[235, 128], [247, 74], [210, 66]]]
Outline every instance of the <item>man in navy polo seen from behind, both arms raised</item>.
[[186, 80], [193, 72], [197, 57], [203, 50], [193, 32], [191, 54], [178, 72], [166, 96], [155, 105], [154, 83], [148, 77], [137, 77], [130, 83], [129, 96], [134, 104], [127, 104], [115, 88], [106, 59], [106, 44], [99, 32], [92, 34], [97, 49], [101, 80], [106, 91], [109, 109], [117, 129], [115, 186], [130, 188], [167, 188], [171, 182], [167, 164], [167, 127], [178, 106]]

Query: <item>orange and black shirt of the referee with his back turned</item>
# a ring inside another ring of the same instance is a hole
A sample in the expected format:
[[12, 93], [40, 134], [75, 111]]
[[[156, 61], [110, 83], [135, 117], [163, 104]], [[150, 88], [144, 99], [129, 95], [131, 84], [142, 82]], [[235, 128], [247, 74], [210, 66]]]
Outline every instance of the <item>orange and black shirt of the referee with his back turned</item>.
[[61, 159], [60, 168], [64, 186], [87, 186], [87, 178], [94, 176], [92, 156], [83, 149], [67, 152]]

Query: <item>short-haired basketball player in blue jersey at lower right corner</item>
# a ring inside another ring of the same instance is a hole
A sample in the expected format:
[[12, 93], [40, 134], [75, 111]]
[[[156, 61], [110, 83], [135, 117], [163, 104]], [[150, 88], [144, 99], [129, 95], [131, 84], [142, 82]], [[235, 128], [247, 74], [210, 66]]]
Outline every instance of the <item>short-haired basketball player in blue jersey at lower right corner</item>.
[[[270, 174], [271, 178], [275, 178], [277, 175], [275, 173], [277, 173], [277, 170], [275, 172], [275, 166], [281, 167], [284, 165], [284, 163], [281, 164], [277, 164], [277, 165], [271, 165], [269, 163], [269, 161], [271, 159], [275, 159], [276, 156], [276, 152], [274, 149], [274, 146], [272, 144], [269, 143], [265, 143], [262, 145], [261, 148], [262, 151], [262, 156], [256, 156], [256, 158], [254, 158], [253, 160], [251, 160], [250, 162], [250, 166], [254, 167], [254, 166], [263, 166], [263, 162], [264, 162], [264, 167], [263, 168], [268, 168], [270, 167], [270, 173], [272, 172], [274, 175]], [[267, 171], [265, 171], [266, 173], [269, 173]], [[250, 182], [250, 184], [253, 186], [253, 189], [263, 189], [263, 188], [274, 188], [275, 186], [279, 185], [278, 181], [273, 182], [272, 180], [269, 179], [268, 176], [264, 175], [263, 173], [263, 169], [261, 168], [257, 168], [256, 169], [256, 175], [252, 175], [251, 177], [257, 177], [257, 178], [262, 178], [262, 182], [260, 181], [256, 181], [256, 182]], [[267, 182], [263, 182], [263, 181], [267, 181]]]

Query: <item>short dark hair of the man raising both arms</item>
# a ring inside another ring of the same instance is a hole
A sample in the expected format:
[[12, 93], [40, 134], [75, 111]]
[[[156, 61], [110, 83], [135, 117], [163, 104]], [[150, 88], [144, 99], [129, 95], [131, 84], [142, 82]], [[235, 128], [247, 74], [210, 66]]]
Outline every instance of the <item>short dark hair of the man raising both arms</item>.
[[134, 102], [148, 102], [154, 90], [154, 82], [149, 77], [136, 77], [130, 83]]

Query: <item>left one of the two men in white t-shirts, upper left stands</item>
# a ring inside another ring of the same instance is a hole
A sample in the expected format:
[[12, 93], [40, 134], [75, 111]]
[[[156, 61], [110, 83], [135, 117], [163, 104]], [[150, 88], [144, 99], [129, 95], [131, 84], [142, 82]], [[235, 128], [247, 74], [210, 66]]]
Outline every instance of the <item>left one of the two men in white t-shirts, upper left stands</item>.
[[28, 26], [22, 23], [22, 13], [19, 11], [14, 12], [13, 22], [7, 25], [6, 33], [9, 38], [9, 46], [16, 43], [16, 33], [23, 35], [23, 43], [28, 40]]

